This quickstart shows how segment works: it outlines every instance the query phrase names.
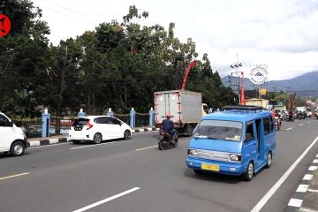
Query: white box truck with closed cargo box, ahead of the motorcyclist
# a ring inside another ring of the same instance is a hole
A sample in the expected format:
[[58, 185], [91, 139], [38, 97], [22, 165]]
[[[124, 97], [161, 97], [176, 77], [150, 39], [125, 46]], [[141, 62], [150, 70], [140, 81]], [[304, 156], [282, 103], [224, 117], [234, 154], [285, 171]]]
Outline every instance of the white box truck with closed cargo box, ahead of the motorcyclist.
[[186, 90], [155, 92], [155, 124], [161, 127], [166, 114], [178, 133], [192, 135], [194, 127], [202, 116], [208, 114], [208, 105], [202, 103], [201, 93]]

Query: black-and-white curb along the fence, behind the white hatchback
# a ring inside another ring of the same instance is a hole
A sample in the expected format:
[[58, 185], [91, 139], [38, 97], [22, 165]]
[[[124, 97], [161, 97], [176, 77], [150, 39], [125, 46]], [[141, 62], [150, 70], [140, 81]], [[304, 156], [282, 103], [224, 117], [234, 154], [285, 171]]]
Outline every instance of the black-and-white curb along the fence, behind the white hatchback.
[[[155, 127], [146, 127], [146, 128], [140, 128], [133, 130], [133, 133], [144, 133], [144, 132], [151, 132], [151, 131], [158, 131], [159, 128]], [[29, 148], [34, 147], [41, 147], [41, 146], [47, 146], [52, 144], [58, 144], [58, 143], [66, 143], [68, 142], [68, 136], [64, 136], [61, 138], [55, 138], [55, 139], [35, 139], [35, 140], [28, 140], [30, 146]]]

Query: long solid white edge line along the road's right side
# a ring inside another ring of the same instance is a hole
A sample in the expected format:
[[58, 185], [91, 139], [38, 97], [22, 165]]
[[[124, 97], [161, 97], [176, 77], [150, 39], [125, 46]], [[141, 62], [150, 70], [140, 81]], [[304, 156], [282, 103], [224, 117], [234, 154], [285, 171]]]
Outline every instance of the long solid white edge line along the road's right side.
[[[294, 170], [296, 168], [296, 166], [298, 165], [298, 163], [305, 157], [305, 155], [307, 155], [307, 152], [309, 151], [310, 148], [313, 148], [314, 144], [317, 142], [318, 140], [318, 136], [315, 138], [315, 140], [309, 145], [308, 148], [305, 149], [305, 151], [299, 156], [299, 158], [292, 163], [292, 166], [286, 170], [286, 172], [284, 173], [284, 175], [282, 176], [282, 178], [278, 179], [278, 181], [276, 182], [276, 184], [274, 186], [272, 186], [269, 189], [269, 192], [266, 193], [262, 198], [261, 201], [257, 202], [257, 204], [254, 206], [254, 208], [251, 210], [251, 212], [258, 212], [261, 210], [261, 208], [264, 207], [264, 205], [266, 204], [267, 201], [269, 201], [269, 198], [276, 193], [277, 189], [282, 186], [282, 184], [284, 183], [284, 181], [286, 180], [286, 178], [288, 178], [288, 176], [292, 173], [292, 170]], [[292, 199], [291, 199], [292, 201]]]

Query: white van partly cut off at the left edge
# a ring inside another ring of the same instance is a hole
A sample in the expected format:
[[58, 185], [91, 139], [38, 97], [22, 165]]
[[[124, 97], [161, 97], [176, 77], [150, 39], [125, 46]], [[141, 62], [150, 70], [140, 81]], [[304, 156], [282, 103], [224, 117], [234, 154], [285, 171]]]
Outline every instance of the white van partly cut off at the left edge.
[[0, 112], [0, 153], [9, 152], [12, 156], [20, 156], [24, 155], [28, 147], [25, 133]]

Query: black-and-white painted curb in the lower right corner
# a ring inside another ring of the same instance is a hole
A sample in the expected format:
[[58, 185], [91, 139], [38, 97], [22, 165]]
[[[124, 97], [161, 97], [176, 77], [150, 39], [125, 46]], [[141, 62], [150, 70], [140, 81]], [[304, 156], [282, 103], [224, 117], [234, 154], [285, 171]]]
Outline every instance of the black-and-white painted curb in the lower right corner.
[[[296, 192], [292, 195], [291, 200], [288, 202], [286, 212], [305, 211], [301, 210], [302, 203], [307, 196], [307, 191], [314, 178], [314, 171], [318, 170], [318, 155], [315, 156], [313, 164], [308, 168], [304, 178], [302, 178]], [[304, 208], [305, 209], [305, 208]]]

